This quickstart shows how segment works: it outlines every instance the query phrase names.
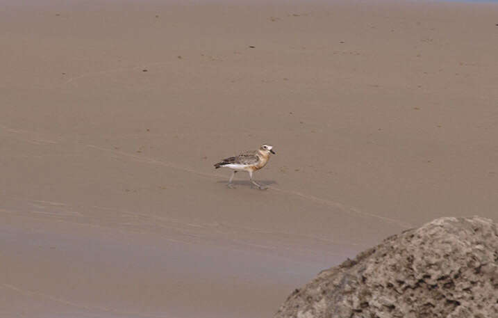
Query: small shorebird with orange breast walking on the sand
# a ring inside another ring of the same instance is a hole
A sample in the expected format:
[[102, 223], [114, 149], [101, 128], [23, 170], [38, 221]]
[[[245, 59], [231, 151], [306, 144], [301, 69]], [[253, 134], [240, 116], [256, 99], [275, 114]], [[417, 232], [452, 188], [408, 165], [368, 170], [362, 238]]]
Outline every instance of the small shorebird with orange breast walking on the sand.
[[244, 170], [249, 173], [249, 179], [251, 179], [252, 184], [257, 186], [258, 189], [260, 190], [265, 190], [267, 189], [266, 186], [258, 184], [252, 179], [252, 173], [266, 166], [269, 160], [270, 153], [275, 154], [275, 152], [273, 151], [273, 146], [262, 145], [258, 150], [243, 152], [238, 156], [223, 159], [222, 161], [215, 164], [215, 168], [217, 169], [221, 167], [226, 167], [233, 169], [232, 175], [230, 176], [229, 179], [229, 184], [226, 185], [231, 189], [233, 189], [232, 180], [233, 177], [235, 176], [235, 173]]

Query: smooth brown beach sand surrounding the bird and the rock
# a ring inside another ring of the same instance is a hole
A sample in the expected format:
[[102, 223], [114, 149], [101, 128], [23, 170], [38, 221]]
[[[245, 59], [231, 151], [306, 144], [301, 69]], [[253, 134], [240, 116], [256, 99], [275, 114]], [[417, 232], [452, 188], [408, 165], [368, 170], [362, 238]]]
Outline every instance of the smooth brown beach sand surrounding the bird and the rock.
[[[389, 234], [498, 221], [497, 5], [13, 2], [2, 318], [270, 317]], [[261, 143], [271, 188], [226, 189]]]

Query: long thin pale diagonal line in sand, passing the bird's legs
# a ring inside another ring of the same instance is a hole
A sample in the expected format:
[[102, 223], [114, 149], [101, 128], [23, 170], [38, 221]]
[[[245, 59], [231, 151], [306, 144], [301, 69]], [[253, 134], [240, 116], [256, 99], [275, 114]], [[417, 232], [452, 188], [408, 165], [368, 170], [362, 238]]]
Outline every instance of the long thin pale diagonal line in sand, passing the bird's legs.
[[[225, 178], [222, 175], [215, 175], [214, 173], [201, 173], [201, 172], [196, 171], [196, 170], [194, 170], [192, 168], [178, 166], [176, 164], [173, 164], [173, 163], [167, 162], [167, 161], [159, 161], [157, 159], [151, 159], [151, 158], [147, 158], [147, 157], [143, 157], [143, 156], [137, 156], [135, 154], [130, 154], [128, 152], [122, 152], [122, 151], [108, 149], [108, 148], [101, 148], [101, 147], [98, 147], [96, 145], [87, 145], [87, 146], [90, 147], [90, 148], [95, 148], [95, 149], [103, 150], [103, 151], [106, 151], [106, 152], [113, 152], [115, 154], [120, 154], [120, 155], [122, 155], [124, 157], [129, 157], [129, 158], [135, 159], [136, 161], [144, 162], [144, 163], [147, 163], [147, 164], [158, 164], [160, 166], [167, 166], [169, 168], [174, 168], [174, 169], [177, 169], [177, 170], [183, 170], [185, 172], [193, 173], [195, 175], [199, 175], [201, 177], [204, 177], [205, 179], [210, 179], [212, 177], [217, 177], [217, 178], [220, 178], [220, 179], [224, 179]], [[282, 193], [288, 193], [288, 194], [290, 194], [292, 196], [298, 196], [300, 198], [304, 198], [305, 200], [310, 200], [310, 201], [313, 201], [313, 202], [319, 202], [319, 203], [322, 203], [324, 205], [328, 205], [329, 207], [335, 207], [336, 209], [340, 209], [341, 211], [349, 213], [349, 214], [358, 214], [360, 216], [365, 216], [365, 217], [370, 217], [370, 218], [377, 218], [377, 219], [379, 219], [381, 221], [384, 221], [384, 222], [394, 223], [394, 224], [396, 224], [399, 227], [404, 228], [404, 229], [413, 228], [413, 225], [411, 225], [408, 222], [400, 221], [400, 220], [397, 220], [396, 218], [389, 218], [387, 216], [380, 216], [380, 215], [377, 215], [377, 214], [363, 212], [363, 211], [360, 211], [360, 209], [357, 209], [356, 207], [348, 207], [347, 205], [343, 205], [342, 203], [334, 202], [332, 200], [327, 200], [327, 199], [323, 199], [323, 198], [317, 198], [315, 196], [310, 196], [308, 194], [301, 193], [301, 192], [298, 192], [298, 191], [279, 189], [276, 186], [269, 186], [268, 188], [272, 189], [272, 190], [275, 190], [275, 191], [282, 192]]]

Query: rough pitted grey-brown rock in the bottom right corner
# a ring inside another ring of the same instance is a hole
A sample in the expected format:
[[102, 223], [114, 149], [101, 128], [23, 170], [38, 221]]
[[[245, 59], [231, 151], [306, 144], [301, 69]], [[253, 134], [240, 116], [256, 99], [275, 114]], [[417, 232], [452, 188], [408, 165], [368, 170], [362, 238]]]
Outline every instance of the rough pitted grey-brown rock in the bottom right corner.
[[295, 289], [274, 317], [497, 318], [497, 225], [438, 218], [388, 237]]

